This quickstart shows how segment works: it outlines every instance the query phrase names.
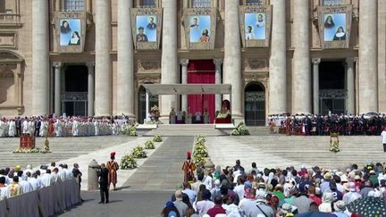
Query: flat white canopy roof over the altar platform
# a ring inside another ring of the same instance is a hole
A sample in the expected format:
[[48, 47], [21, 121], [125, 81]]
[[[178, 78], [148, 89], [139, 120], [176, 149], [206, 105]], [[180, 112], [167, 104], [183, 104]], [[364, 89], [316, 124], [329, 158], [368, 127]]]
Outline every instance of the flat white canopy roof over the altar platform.
[[231, 94], [230, 84], [143, 84], [151, 95]]

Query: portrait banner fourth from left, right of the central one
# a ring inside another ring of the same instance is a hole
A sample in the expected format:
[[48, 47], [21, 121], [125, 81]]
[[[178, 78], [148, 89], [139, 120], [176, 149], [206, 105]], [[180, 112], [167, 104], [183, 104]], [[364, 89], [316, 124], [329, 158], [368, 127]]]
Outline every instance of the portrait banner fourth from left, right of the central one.
[[239, 22], [244, 47], [269, 46], [272, 23], [271, 5], [239, 6]]

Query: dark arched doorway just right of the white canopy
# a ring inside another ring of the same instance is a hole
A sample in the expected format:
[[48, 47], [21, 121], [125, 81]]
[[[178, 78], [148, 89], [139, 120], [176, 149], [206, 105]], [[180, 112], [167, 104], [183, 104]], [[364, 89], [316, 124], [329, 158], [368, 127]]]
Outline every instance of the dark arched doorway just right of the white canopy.
[[245, 88], [245, 121], [248, 126], [265, 125], [265, 88], [260, 82], [248, 83]]

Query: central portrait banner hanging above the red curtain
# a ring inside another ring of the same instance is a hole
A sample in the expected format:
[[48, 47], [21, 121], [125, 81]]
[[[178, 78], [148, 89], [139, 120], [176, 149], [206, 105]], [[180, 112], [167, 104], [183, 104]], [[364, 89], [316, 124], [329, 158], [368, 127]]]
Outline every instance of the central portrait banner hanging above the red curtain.
[[215, 9], [187, 8], [183, 17], [188, 48], [191, 50], [214, 49]]

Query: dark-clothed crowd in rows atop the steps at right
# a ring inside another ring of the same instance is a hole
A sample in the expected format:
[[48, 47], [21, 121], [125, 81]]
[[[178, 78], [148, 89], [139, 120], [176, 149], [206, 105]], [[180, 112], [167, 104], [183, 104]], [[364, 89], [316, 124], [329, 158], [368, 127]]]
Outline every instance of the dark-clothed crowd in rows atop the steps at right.
[[269, 125], [279, 127], [287, 135], [380, 135], [386, 127], [384, 113], [371, 115], [313, 115], [313, 114], [278, 114], [268, 117]]

